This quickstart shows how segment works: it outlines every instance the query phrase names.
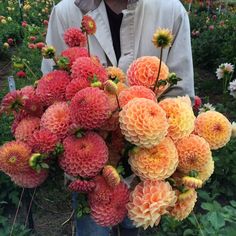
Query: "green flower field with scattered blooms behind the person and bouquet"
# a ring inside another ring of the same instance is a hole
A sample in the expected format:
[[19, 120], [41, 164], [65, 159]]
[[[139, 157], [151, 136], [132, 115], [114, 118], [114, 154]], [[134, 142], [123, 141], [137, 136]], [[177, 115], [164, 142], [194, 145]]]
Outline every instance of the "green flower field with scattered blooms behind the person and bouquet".
[[[236, 88], [232, 91], [228, 87], [223, 89], [224, 79], [217, 79], [216, 75], [222, 63], [236, 65], [236, 3], [183, 3], [191, 10], [196, 95], [203, 104], [212, 104], [231, 122], [236, 121], [236, 96], [232, 96]], [[8, 76], [14, 76], [17, 89], [31, 85], [41, 77], [41, 49], [53, 5], [51, 0], [25, 1], [20, 7], [18, 1], [0, 0], [0, 100], [9, 91]], [[236, 73], [232, 71], [231, 81], [235, 78]], [[12, 119], [5, 115], [0, 117], [0, 145], [12, 139]], [[194, 212], [182, 222], [164, 217], [158, 227], [143, 231], [141, 235], [236, 235], [236, 138], [214, 151], [213, 157], [215, 172], [198, 191]], [[37, 190], [33, 202], [33, 233], [24, 227], [25, 199], [20, 210], [22, 217], [18, 217], [19, 224], [13, 235], [71, 235], [73, 226], [70, 221], [65, 223], [71, 214], [70, 192], [63, 186], [63, 175], [58, 171], [57, 176], [52, 176], [50, 182]], [[21, 189], [0, 173], [1, 236], [9, 235], [20, 192]], [[30, 197], [34, 193], [29, 191], [27, 194]]]

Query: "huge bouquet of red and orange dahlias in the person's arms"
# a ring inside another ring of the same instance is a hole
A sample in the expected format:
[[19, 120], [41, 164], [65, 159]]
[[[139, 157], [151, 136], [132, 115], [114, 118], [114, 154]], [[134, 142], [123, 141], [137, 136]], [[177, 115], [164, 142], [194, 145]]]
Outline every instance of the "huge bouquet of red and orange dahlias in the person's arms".
[[[54, 70], [3, 98], [1, 112], [15, 117], [15, 140], [0, 148], [0, 170], [17, 185], [35, 188], [56, 157], [73, 179], [69, 189], [87, 194], [101, 226], [116, 225], [127, 214], [144, 229], [165, 214], [183, 220], [196, 203], [196, 189], [213, 173], [211, 150], [230, 140], [231, 123], [216, 111], [196, 117], [188, 96], [161, 99], [179, 80], [161, 57], [138, 58], [126, 75], [104, 68], [89, 52], [87, 38], [95, 31], [89, 17], [81, 29], [68, 29], [69, 48], [60, 56], [52, 46], [42, 49]], [[166, 29], [153, 36], [161, 55], [171, 41]], [[120, 171], [126, 157], [129, 184]]]

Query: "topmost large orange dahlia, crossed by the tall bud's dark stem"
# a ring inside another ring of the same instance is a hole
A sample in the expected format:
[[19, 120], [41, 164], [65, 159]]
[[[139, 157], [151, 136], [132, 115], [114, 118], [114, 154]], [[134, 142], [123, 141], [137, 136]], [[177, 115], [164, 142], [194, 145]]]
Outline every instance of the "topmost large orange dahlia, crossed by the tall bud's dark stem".
[[[143, 56], [138, 58], [129, 66], [127, 71], [129, 85], [143, 85], [148, 88], [153, 88], [157, 79], [159, 65], [160, 60], [158, 57]], [[169, 69], [166, 64], [162, 62], [159, 80], [166, 80], [168, 75]]]

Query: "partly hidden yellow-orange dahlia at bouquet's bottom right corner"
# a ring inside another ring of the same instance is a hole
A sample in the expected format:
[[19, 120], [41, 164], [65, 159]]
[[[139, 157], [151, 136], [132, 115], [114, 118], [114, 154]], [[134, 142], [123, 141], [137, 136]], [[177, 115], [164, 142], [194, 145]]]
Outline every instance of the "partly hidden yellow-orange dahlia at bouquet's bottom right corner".
[[181, 194], [177, 191], [178, 200], [174, 208], [170, 211], [170, 215], [173, 216], [176, 220], [183, 220], [189, 216], [192, 212], [195, 203], [197, 201], [197, 192], [192, 190], [191, 197], [187, 199], [179, 198]]

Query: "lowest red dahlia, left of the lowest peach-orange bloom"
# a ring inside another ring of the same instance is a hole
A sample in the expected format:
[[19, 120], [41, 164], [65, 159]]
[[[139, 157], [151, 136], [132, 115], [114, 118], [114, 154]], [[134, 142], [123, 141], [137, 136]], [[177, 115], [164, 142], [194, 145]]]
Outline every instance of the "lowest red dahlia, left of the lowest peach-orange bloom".
[[97, 176], [95, 183], [95, 189], [89, 193], [91, 217], [103, 227], [119, 224], [127, 215], [126, 204], [129, 201], [127, 185], [120, 182], [111, 187], [102, 176]]

